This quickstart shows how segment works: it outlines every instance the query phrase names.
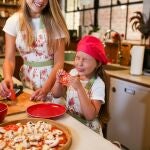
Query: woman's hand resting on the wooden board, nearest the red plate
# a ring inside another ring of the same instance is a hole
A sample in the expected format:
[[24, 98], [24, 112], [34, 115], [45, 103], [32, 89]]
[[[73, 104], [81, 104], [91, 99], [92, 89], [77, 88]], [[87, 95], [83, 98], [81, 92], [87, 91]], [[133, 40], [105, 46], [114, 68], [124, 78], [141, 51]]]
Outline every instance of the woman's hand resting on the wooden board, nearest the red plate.
[[43, 88], [36, 90], [30, 97], [32, 101], [45, 101], [47, 93]]

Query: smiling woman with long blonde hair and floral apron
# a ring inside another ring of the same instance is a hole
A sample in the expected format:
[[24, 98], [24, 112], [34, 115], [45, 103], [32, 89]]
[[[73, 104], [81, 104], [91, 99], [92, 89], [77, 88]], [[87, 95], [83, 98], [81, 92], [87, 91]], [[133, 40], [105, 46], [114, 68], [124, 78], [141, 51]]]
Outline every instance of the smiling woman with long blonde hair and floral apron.
[[3, 28], [6, 43], [0, 94], [7, 97], [13, 89], [17, 48], [24, 60], [20, 72], [23, 85], [35, 90], [32, 100], [45, 100], [57, 70], [63, 67], [69, 34], [58, 0], [22, 0], [21, 4]]

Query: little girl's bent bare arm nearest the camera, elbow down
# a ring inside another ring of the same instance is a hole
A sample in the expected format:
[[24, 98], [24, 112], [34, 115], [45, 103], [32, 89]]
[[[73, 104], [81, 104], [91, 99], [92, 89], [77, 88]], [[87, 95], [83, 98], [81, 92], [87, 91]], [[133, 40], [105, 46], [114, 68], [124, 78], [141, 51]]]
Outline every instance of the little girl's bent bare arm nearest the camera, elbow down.
[[78, 93], [80, 106], [84, 114], [84, 117], [87, 120], [93, 120], [94, 118], [96, 118], [101, 107], [101, 101], [91, 100], [87, 96], [85, 89], [82, 86], [78, 77], [71, 77], [70, 84], [74, 87], [74, 89]]

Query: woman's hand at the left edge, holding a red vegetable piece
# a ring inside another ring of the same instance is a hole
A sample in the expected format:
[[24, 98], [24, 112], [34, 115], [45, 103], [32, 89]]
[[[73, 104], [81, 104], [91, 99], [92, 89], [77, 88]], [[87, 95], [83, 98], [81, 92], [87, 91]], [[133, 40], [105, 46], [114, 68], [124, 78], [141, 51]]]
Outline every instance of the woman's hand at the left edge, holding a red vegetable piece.
[[13, 80], [11, 79], [4, 79], [0, 83], [0, 95], [2, 97], [9, 97], [10, 96], [10, 90], [13, 90]]

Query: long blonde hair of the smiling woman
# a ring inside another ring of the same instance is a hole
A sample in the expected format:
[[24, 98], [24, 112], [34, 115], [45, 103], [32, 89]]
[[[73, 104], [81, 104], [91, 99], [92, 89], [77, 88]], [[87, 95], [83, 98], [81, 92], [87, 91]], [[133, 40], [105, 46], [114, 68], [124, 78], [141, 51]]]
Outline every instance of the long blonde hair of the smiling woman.
[[[31, 19], [29, 13], [29, 7], [26, 0], [22, 0], [20, 12], [20, 30], [25, 32], [25, 42], [27, 45], [32, 46], [34, 42], [34, 34], [31, 25]], [[41, 19], [46, 29], [48, 47], [54, 47], [64, 41], [66, 44], [69, 43], [70, 37], [68, 29], [61, 13], [60, 6], [57, 0], [49, 0], [47, 6], [41, 12]], [[54, 31], [55, 29], [55, 31]], [[53, 39], [54, 32], [60, 36], [59, 39]], [[61, 33], [64, 34], [64, 38], [61, 38]]]

